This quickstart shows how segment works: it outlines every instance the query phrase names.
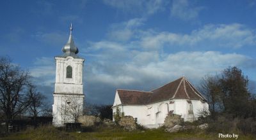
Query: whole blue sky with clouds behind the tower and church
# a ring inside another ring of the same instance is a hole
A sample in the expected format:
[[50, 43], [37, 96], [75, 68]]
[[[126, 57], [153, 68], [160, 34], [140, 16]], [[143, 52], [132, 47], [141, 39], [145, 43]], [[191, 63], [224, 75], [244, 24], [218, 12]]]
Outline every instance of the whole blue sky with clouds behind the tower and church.
[[0, 55], [28, 69], [52, 102], [54, 56], [69, 26], [84, 62], [86, 102], [116, 88], [152, 90], [238, 66], [256, 81], [256, 1], [1, 1]]

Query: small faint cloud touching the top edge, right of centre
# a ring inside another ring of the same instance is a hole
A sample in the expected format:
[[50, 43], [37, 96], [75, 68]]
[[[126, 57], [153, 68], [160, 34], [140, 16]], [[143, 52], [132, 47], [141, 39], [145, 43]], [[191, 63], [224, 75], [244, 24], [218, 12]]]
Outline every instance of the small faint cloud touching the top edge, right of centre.
[[202, 6], [193, 6], [188, 0], [173, 0], [171, 6], [171, 16], [182, 20], [194, 20], [198, 17]]

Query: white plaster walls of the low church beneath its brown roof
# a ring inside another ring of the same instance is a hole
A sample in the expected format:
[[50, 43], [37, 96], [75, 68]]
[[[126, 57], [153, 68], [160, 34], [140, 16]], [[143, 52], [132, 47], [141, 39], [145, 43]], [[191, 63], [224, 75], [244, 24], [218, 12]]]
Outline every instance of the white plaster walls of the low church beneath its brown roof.
[[191, 100], [194, 113], [191, 118], [191, 115], [188, 113], [189, 103], [187, 99], [174, 99], [172, 101], [174, 102], [171, 104], [170, 101], [162, 101], [147, 105], [122, 105], [116, 92], [113, 113], [116, 112], [116, 106], [119, 106], [120, 111], [123, 111], [125, 116], [130, 115], [133, 118], [138, 118], [138, 123], [145, 127], [157, 128], [163, 125], [164, 119], [169, 111], [173, 110], [173, 113], [181, 115], [185, 121], [189, 121], [196, 119], [202, 109], [208, 109], [207, 102], [203, 103], [201, 101]]

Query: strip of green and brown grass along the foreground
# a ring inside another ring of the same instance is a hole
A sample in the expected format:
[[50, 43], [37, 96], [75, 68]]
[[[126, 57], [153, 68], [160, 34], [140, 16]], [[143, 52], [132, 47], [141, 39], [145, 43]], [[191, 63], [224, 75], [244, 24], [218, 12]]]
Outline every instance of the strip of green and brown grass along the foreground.
[[[54, 127], [40, 127], [38, 129], [26, 130], [11, 134], [0, 139], [175, 139], [175, 140], [202, 140], [202, 139], [235, 139], [218, 138], [218, 134], [205, 134], [205, 132], [164, 132], [164, 129], [136, 130], [127, 132], [120, 128], [85, 129], [85, 132], [65, 132]], [[241, 136], [238, 139], [256, 139], [253, 136]]]

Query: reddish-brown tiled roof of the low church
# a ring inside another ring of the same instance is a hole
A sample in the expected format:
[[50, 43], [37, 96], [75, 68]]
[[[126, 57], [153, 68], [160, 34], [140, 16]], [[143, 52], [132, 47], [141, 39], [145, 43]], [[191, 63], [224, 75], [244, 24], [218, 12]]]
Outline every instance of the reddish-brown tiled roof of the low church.
[[156, 88], [151, 92], [137, 90], [117, 90], [122, 104], [150, 104], [169, 99], [193, 99], [206, 101], [204, 96], [183, 76]]

